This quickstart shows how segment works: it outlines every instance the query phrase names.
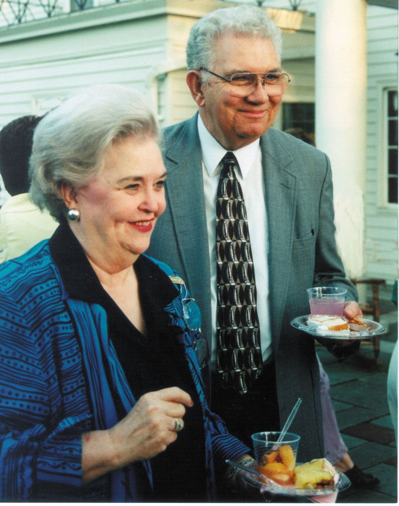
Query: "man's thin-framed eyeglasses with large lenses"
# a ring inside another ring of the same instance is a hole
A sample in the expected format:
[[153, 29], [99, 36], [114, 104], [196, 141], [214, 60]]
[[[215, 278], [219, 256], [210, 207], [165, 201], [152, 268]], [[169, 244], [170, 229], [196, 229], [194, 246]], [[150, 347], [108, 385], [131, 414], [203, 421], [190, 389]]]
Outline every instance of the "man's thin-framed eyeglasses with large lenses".
[[228, 78], [223, 75], [215, 74], [207, 68], [200, 68], [200, 70], [205, 70], [205, 72], [209, 72], [219, 77], [219, 79], [229, 82], [230, 95], [236, 98], [243, 98], [250, 95], [257, 87], [259, 81], [269, 97], [278, 97], [285, 92], [291, 80], [289, 75], [284, 72], [238, 72]]

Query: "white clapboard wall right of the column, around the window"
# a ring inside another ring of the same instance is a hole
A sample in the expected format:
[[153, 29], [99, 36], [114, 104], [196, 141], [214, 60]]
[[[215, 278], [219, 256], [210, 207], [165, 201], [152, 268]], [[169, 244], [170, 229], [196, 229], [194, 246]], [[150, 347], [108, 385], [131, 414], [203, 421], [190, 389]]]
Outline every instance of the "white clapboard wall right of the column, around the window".
[[365, 260], [368, 277], [397, 277], [397, 205], [384, 199], [384, 88], [397, 86], [397, 11], [367, 8], [367, 173]]

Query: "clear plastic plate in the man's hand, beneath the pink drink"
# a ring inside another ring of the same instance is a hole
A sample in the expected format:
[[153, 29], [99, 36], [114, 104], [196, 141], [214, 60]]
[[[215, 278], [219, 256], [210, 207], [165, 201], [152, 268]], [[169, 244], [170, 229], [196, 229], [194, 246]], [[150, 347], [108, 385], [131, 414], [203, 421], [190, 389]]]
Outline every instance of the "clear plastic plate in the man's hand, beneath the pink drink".
[[[298, 330], [303, 330], [307, 334], [313, 335], [316, 338], [330, 338], [330, 339], [342, 339], [342, 340], [364, 340], [372, 338], [374, 335], [382, 334], [385, 332], [385, 327], [380, 323], [373, 320], [366, 320], [365, 318], [359, 318], [359, 320], [365, 323], [371, 330], [365, 328], [364, 330], [322, 330], [320, 328], [311, 328], [307, 326], [307, 319], [312, 315], [303, 315], [294, 318], [291, 321], [291, 325]], [[330, 315], [336, 316], [336, 315]], [[347, 320], [344, 316], [340, 316], [343, 320]]]

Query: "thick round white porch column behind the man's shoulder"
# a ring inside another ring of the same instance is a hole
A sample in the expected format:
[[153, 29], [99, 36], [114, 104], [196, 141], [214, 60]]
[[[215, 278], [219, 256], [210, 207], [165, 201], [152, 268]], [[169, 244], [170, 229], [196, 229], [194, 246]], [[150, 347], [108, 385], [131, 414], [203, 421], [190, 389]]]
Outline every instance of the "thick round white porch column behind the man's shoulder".
[[366, 0], [317, 0], [316, 144], [334, 183], [336, 240], [348, 277], [363, 274]]

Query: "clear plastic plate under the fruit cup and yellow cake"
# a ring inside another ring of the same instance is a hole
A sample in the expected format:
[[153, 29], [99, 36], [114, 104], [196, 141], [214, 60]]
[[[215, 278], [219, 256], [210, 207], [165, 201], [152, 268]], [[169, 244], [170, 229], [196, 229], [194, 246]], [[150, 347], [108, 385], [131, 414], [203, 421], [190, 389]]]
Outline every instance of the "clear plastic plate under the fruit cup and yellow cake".
[[[300, 466], [301, 463], [298, 462], [297, 466]], [[256, 471], [256, 464], [255, 462], [252, 463], [250, 466], [252, 469]], [[328, 495], [335, 492], [335, 490], [345, 490], [350, 486], [350, 480], [349, 478], [337, 470], [337, 473], [339, 474], [339, 480], [338, 483], [335, 485], [332, 485], [331, 487], [325, 487], [325, 488], [319, 488], [319, 489], [308, 489], [308, 488], [296, 488], [294, 485], [287, 485], [287, 486], [274, 486], [269, 485], [267, 483], [263, 483], [261, 481], [261, 478], [258, 478], [257, 476], [251, 474], [251, 473], [244, 473], [244, 480], [249, 485], [258, 488], [261, 492], [269, 492], [271, 494], [276, 495], [295, 495], [295, 496], [318, 496], [318, 495]]]

